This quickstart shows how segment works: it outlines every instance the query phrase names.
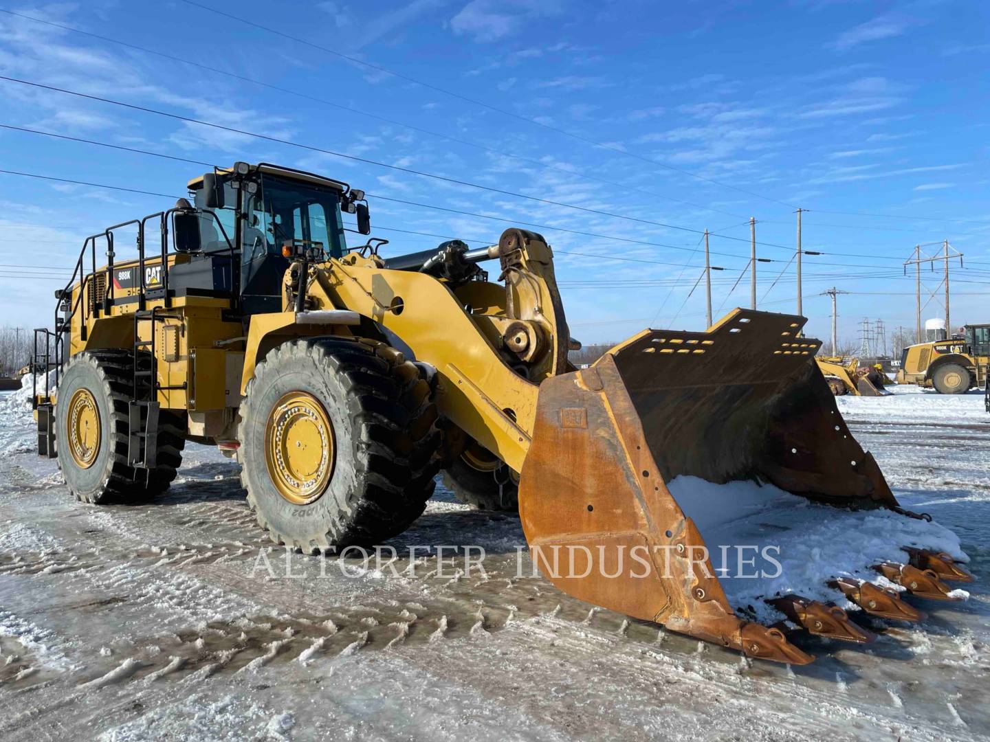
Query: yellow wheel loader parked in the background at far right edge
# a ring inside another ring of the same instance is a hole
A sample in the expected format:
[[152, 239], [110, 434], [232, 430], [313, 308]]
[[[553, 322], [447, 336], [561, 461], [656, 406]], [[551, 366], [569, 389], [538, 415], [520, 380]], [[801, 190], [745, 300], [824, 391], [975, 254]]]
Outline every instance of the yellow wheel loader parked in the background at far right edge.
[[934, 388], [939, 394], [964, 394], [987, 385], [990, 325], [966, 325], [945, 340], [909, 345], [901, 352], [898, 384]]

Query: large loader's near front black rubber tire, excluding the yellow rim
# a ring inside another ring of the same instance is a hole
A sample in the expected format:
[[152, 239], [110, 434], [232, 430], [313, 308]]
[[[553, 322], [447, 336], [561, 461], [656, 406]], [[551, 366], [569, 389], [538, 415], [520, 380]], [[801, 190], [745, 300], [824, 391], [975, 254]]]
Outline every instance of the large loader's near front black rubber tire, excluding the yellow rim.
[[[265, 426], [289, 392], [307, 392], [334, 427], [336, 461], [323, 495], [296, 505], [268, 473]], [[440, 462], [434, 389], [420, 366], [377, 340], [286, 342], [257, 364], [241, 406], [241, 481], [272, 541], [307, 553], [370, 546], [426, 508]]]

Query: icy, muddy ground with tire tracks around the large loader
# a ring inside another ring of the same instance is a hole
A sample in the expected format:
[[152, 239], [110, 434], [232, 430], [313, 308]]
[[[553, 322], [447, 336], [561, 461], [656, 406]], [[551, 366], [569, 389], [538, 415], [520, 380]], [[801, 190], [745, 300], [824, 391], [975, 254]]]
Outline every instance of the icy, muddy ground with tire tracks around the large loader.
[[[861, 618], [880, 633], [871, 645], [798, 637], [818, 657], [800, 668], [520, 578], [519, 520], [443, 491], [392, 545], [480, 545], [487, 577], [463, 574], [460, 556], [437, 574], [420, 552], [413, 574], [408, 555], [398, 576], [349, 559], [354, 577], [296, 556], [288, 578], [280, 553], [259, 556], [236, 464], [190, 445], [159, 502], [82, 506], [32, 453], [27, 396], [8, 394], [0, 739], [985, 739], [990, 415], [978, 394], [894, 392], [841, 398], [842, 414], [902, 505], [957, 534], [978, 582], [962, 603], [908, 599], [921, 624]], [[840, 522], [792, 564], [852, 564], [889, 530], [867, 539]]]

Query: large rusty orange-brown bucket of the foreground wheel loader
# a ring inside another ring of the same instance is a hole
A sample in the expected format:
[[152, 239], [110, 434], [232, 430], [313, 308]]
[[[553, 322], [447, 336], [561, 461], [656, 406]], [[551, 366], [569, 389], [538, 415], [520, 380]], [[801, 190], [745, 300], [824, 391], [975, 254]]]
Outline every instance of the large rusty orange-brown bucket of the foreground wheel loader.
[[681, 476], [750, 480], [785, 498], [898, 508], [845, 427], [804, 323], [736, 310], [707, 332], [647, 329], [541, 384], [519, 503], [534, 562], [556, 587], [749, 656], [814, 659], [737, 615], [668, 489]]

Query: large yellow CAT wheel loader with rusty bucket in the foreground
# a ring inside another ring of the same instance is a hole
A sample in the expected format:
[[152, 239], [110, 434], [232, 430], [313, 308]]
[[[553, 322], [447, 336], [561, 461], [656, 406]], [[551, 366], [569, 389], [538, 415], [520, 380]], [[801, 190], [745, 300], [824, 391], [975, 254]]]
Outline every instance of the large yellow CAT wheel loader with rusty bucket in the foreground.
[[[671, 494], [675, 479], [758, 482], [820, 519], [920, 522], [842, 421], [803, 318], [736, 310], [704, 332], [645, 329], [576, 370], [540, 234], [383, 254], [383, 239], [347, 246], [342, 212], [363, 234], [370, 223], [341, 181], [238, 162], [188, 187], [194, 203], [88, 238], [54, 330], [36, 335], [36, 368], [58, 376], [36, 390], [39, 451], [78, 499], [154, 496], [185, 441], [215, 444], [239, 459], [273, 541], [328, 553], [402, 532], [442, 469], [465, 502], [518, 504], [534, 562], [588, 603], [780, 662], [812, 661], [788, 638], [799, 627], [868, 640], [838, 605], [795, 592], [766, 597], [774, 625], [732, 605], [698, 525], [716, 506], [695, 498], [688, 516]], [[125, 229], [137, 256], [119, 259]], [[570, 566], [556, 569], [561, 552]], [[968, 578], [945, 554], [904, 557], [884, 574], [919, 595]], [[811, 587], [919, 615], [851, 574]]]

